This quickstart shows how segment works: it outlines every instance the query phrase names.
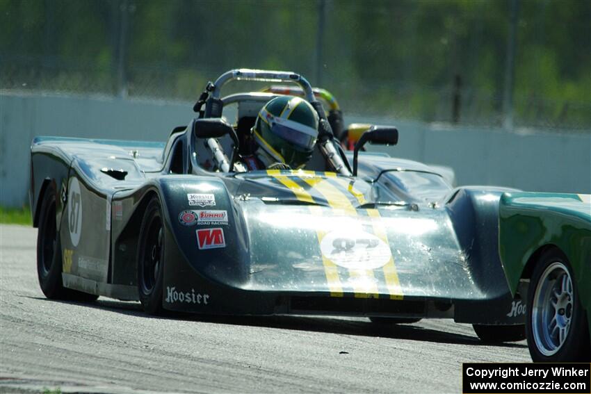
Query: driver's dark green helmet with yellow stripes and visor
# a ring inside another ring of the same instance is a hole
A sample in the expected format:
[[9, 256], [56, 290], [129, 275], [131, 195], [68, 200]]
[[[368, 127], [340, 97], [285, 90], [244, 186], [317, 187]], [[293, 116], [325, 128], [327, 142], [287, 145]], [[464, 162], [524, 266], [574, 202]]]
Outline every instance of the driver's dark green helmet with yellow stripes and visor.
[[318, 114], [300, 97], [275, 97], [260, 110], [252, 133], [257, 145], [277, 163], [301, 168], [316, 145]]

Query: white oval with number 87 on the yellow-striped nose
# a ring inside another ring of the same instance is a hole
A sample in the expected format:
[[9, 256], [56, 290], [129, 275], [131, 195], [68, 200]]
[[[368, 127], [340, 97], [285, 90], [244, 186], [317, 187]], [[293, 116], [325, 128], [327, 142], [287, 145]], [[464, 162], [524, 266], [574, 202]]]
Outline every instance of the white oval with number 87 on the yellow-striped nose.
[[327, 233], [320, 243], [323, 256], [351, 270], [375, 270], [392, 256], [390, 247], [380, 238], [362, 230], [337, 230]]

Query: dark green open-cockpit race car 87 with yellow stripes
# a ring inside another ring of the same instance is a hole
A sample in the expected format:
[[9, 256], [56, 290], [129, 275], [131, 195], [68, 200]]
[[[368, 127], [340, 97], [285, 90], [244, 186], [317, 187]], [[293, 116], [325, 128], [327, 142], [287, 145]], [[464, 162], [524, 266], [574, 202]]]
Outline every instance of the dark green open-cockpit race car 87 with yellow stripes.
[[[241, 80], [305, 92], [320, 122], [304, 170], [248, 171], [238, 161], [259, 111], [280, 95], [222, 97]], [[372, 126], [345, 154], [294, 72], [231, 70], [194, 109], [166, 142], [33, 140], [47, 297], [139, 300], [154, 315], [453, 318], [483, 340], [524, 338], [497, 247], [499, 199], [515, 190], [453, 188], [428, 165], [361, 151], [396, 144], [391, 126]]]

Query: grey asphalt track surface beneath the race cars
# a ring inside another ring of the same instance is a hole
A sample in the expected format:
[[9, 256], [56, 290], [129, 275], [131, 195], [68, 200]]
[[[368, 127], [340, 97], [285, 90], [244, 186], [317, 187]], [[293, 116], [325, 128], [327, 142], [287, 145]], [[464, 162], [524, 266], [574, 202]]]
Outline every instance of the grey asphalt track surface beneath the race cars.
[[152, 318], [137, 302], [45, 299], [37, 231], [0, 225], [0, 392], [461, 393], [462, 362], [531, 361], [470, 325], [364, 318]]

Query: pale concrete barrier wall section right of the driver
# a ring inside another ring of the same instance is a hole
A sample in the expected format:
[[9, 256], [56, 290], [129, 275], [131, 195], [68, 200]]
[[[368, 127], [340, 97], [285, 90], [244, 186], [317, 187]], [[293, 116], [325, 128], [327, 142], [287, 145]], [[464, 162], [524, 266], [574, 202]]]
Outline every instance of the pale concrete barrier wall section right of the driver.
[[387, 119], [372, 121], [393, 124], [399, 131], [396, 147], [374, 150], [448, 165], [455, 170], [458, 185], [591, 193], [591, 129], [585, 133], [509, 133]]

